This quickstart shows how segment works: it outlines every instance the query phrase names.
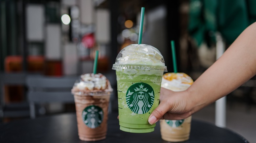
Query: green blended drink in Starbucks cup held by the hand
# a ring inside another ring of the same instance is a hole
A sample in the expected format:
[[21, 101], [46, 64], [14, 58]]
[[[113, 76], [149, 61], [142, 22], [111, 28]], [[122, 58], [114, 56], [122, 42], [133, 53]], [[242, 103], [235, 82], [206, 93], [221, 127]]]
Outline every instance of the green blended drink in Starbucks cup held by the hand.
[[113, 65], [117, 74], [120, 130], [131, 133], [153, 132], [148, 117], [159, 105], [164, 59], [155, 47], [131, 44], [122, 49]]

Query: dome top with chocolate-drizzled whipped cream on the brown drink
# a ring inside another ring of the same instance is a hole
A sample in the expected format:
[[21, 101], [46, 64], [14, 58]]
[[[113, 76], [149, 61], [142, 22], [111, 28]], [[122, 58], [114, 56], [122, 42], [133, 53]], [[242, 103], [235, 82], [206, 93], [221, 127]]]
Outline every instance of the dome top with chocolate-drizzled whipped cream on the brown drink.
[[113, 88], [105, 75], [101, 73], [85, 73], [75, 82], [72, 93], [76, 95], [96, 95], [102, 92], [112, 92]]

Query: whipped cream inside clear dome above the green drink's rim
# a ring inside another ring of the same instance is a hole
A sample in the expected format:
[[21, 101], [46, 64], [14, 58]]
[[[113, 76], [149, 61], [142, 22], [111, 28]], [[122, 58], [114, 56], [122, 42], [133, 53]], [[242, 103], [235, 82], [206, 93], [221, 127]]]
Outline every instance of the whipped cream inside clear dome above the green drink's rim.
[[117, 55], [116, 64], [142, 64], [164, 66], [160, 51], [147, 44], [131, 44]]

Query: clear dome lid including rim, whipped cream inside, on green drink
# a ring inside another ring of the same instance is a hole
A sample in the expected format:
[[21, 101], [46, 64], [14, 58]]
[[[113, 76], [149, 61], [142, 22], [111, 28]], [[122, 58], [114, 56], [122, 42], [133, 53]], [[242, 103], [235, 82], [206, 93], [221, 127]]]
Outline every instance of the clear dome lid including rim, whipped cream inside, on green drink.
[[124, 47], [118, 53], [112, 69], [167, 71], [160, 51], [148, 44], [131, 44]]

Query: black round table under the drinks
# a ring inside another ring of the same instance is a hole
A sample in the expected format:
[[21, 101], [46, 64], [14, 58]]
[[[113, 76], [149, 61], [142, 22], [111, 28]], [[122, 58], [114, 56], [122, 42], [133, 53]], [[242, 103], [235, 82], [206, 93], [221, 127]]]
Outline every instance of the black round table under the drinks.
[[[0, 124], [0, 143], [85, 143], [77, 135], [75, 113], [24, 119]], [[168, 143], [161, 139], [157, 122], [151, 133], [119, 130], [117, 113], [109, 114], [107, 138], [97, 143]], [[248, 143], [241, 135], [214, 124], [192, 119], [191, 134], [182, 143]]]

